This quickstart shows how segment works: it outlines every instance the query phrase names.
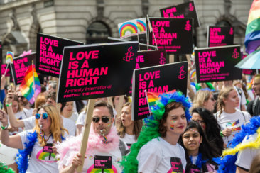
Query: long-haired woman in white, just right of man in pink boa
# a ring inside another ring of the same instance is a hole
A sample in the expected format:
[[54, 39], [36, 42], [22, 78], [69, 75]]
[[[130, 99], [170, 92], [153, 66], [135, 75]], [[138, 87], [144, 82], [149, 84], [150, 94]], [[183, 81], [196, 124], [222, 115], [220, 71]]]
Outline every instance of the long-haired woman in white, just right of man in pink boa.
[[132, 143], [136, 143], [141, 132], [143, 122], [141, 120], [131, 120], [131, 103], [127, 102], [121, 110], [121, 121], [117, 130], [121, 140], [123, 140], [130, 148]]

